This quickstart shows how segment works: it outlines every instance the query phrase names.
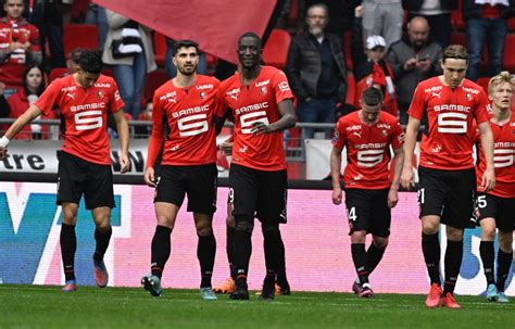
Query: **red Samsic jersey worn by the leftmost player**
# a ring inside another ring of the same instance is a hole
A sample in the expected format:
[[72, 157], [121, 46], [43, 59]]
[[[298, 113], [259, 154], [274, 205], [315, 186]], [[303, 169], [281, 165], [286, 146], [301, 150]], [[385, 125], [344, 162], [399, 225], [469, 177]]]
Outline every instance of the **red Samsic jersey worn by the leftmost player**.
[[112, 77], [100, 75], [92, 87], [77, 86], [74, 75], [55, 79], [35, 105], [50, 115], [54, 105], [64, 121], [62, 150], [86, 161], [111, 165], [108, 136], [108, 111], [124, 107], [118, 88]]

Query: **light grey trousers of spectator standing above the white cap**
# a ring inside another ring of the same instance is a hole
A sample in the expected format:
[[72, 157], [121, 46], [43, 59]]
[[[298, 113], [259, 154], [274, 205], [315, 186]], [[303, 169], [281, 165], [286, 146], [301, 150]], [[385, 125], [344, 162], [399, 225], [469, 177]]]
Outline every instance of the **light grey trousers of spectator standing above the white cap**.
[[402, 37], [403, 17], [401, 0], [363, 0], [363, 41], [384, 36], [388, 51]]

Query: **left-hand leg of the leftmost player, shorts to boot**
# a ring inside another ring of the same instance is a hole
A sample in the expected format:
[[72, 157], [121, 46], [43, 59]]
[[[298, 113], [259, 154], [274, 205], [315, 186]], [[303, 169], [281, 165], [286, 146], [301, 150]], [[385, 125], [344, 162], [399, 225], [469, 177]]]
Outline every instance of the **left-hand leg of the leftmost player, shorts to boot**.
[[87, 163], [66, 152], [59, 152], [58, 200], [62, 206], [63, 224], [61, 225], [60, 244], [65, 277], [64, 292], [75, 291], [75, 252], [77, 238], [75, 225], [77, 211], [83, 197], [83, 184], [87, 180]]

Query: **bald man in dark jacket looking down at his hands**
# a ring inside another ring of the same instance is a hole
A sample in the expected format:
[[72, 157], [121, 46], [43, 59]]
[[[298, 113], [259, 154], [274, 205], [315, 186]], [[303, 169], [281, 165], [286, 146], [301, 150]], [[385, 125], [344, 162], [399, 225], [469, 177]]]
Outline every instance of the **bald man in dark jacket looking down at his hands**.
[[407, 124], [407, 109], [419, 81], [441, 74], [438, 60], [441, 47], [429, 38], [430, 28], [426, 18], [413, 17], [407, 23], [407, 35], [391, 46], [387, 61], [397, 81], [400, 123]]

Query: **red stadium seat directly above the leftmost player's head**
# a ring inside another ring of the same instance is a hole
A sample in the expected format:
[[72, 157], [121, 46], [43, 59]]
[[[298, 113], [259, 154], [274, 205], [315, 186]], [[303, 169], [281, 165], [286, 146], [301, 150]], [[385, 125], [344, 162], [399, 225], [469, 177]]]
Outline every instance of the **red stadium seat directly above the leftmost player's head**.
[[64, 55], [66, 59], [70, 58], [70, 52], [75, 48], [99, 49], [97, 35], [97, 25], [66, 24], [63, 35]]

